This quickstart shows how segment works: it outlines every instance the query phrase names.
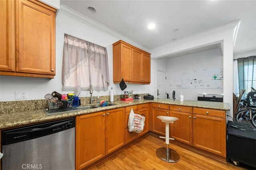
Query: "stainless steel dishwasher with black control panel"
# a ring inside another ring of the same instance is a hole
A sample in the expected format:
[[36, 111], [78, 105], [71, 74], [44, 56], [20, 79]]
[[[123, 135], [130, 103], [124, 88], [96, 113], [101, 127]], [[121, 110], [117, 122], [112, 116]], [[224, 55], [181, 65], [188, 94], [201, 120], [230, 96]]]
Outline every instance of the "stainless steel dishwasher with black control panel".
[[2, 170], [74, 170], [75, 119], [2, 131]]

